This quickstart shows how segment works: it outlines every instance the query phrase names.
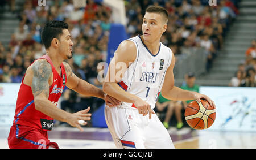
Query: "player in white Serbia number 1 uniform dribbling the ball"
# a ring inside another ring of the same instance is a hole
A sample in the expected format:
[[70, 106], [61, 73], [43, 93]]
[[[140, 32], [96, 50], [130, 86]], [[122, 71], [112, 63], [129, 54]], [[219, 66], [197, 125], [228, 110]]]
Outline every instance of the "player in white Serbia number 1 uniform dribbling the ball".
[[174, 86], [175, 57], [160, 42], [168, 12], [159, 6], [146, 10], [142, 36], [121, 42], [110, 62], [103, 90], [122, 101], [105, 107], [105, 118], [117, 148], [174, 148], [171, 137], [152, 110], [158, 95], [170, 100], [207, 100], [204, 94]]

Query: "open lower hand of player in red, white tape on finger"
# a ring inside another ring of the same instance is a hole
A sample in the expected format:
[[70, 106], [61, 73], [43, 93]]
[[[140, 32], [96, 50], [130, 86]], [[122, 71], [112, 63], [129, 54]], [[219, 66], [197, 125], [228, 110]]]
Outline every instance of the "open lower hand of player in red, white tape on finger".
[[78, 111], [77, 113], [70, 114], [67, 117], [67, 123], [73, 127], [77, 127], [81, 132], [84, 131], [80, 125], [86, 125], [92, 114], [88, 113], [90, 107], [85, 110]]

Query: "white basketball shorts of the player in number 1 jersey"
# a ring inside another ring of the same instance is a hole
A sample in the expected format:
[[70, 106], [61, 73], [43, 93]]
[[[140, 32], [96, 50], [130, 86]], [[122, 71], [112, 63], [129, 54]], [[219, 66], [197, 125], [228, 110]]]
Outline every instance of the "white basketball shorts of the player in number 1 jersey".
[[156, 114], [149, 119], [137, 109], [105, 106], [105, 119], [117, 148], [174, 148]]

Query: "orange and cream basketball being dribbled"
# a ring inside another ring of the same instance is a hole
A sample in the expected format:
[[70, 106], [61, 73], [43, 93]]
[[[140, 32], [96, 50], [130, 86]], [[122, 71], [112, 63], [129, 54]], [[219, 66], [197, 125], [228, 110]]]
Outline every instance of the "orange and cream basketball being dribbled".
[[207, 129], [214, 123], [215, 110], [207, 100], [201, 100], [200, 103], [194, 100], [185, 109], [185, 120], [193, 129]]

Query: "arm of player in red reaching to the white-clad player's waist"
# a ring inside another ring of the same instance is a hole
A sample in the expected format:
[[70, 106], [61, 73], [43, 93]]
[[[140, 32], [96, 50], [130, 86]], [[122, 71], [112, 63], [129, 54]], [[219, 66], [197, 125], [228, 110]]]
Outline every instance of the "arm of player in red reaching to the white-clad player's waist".
[[67, 73], [67, 87], [75, 90], [77, 93], [83, 94], [85, 96], [93, 96], [105, 100], [106, 104], [109, 106], [118, 106], [120, 101], [115, 98], [105, 94], [100, 88], [88, 83], [85, 80], [77, 77], [73, 72], [68, 63], [63, 62], [65, 71]]

